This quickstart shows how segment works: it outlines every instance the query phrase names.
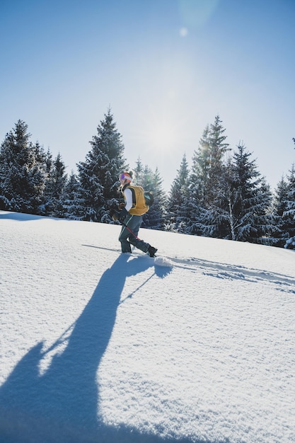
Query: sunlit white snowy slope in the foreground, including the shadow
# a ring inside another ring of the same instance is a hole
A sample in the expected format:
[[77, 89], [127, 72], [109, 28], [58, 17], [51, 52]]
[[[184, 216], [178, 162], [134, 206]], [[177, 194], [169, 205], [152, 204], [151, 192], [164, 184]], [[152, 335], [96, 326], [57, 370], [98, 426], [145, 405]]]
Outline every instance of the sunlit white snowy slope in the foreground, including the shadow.
[[119, 232], [0, 212], [1, 443], [295, 442], [294, 251]]

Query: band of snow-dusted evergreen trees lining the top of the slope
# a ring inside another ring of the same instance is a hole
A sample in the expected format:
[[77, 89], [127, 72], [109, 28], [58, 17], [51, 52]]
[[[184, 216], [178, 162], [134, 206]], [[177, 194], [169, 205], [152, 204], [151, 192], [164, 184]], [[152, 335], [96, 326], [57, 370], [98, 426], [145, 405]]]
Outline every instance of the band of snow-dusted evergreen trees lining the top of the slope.
[[[153, 192], [142, 227], [182, 234], [248, 241], [295, 249], [295, 166], [270, 185], [244, 144], [231, 149], [219, 115], [204, 128], [192, 166], [185, 154], [167, 193], [161, 172], [125, 159], [122, 135], [111, 110], [100, 121], [77, 172], [66, 173], [62, 155], [31, 141], [22, 120], [0, 146], [0, 209], [88, 222], [110, 217], [122, 195], [119, 175], [134, 171], [134, 183]], [[295, 139], [294, 143], [295, 143]]]

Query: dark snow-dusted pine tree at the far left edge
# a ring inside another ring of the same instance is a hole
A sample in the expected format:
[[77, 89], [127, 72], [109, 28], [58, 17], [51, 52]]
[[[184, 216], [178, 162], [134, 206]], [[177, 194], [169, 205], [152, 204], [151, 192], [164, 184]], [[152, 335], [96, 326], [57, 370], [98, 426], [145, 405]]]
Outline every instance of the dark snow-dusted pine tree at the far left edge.
[[42, 148], [18, 120], [0, 147], [0, 209], [38, 214], [45, 187]]

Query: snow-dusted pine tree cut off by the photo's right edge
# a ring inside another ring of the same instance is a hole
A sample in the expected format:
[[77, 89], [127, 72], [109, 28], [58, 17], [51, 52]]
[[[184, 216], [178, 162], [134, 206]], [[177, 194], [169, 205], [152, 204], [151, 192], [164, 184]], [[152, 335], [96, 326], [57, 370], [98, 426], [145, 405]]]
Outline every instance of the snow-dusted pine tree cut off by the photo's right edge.
[[283, 219], [286, 231], [289, 235], [284, 248], [295, 249], [295, 165], [291, 166], [290, 174], [287, 176], [287, 200], [286, 210], [283, 213]]

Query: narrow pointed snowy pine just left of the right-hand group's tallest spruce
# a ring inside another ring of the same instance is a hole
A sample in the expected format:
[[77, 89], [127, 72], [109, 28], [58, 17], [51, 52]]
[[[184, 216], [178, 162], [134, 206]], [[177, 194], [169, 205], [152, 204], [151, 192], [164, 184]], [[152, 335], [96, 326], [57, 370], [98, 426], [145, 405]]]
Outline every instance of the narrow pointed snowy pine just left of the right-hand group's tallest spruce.
[[177, 173], [168, 196], [166, 230], [185, 233], [190, 222], [190, 208], [187, 206], [190, 170], [185, 154]]

